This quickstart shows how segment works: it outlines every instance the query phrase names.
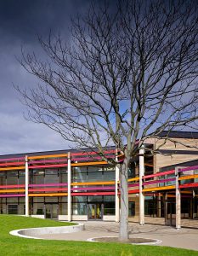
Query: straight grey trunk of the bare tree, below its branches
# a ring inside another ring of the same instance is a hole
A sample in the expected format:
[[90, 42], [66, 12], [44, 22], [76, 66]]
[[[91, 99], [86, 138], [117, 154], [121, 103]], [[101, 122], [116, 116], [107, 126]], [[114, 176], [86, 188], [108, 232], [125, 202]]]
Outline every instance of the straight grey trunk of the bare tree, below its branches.
[[128, 189], [127, 189], [127, 158], [121, 166], [121, 218], [120, 218], [120, 241], [128, 240]]

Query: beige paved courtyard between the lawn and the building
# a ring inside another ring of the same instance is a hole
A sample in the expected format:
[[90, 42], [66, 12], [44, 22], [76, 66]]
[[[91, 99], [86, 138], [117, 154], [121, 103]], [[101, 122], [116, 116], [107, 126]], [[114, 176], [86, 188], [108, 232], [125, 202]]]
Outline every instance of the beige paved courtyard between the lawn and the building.
[[[87, 241], [88, 238], [101, 236], [118, 236], [119, 224], [101, 221], [81, 222], [85, 230], [71, 234], [50, 234], [37, 236], [53, 240]], [[197, 223], [197, 221], [196, 221]], [[181, 247], [198, 251], [198, 229], [182, 228], [175, 230], [173, 227], [160, 224], [137, 223], [129, 224], [130, 237], [153, 238], [162, 242], [156, 246]]]

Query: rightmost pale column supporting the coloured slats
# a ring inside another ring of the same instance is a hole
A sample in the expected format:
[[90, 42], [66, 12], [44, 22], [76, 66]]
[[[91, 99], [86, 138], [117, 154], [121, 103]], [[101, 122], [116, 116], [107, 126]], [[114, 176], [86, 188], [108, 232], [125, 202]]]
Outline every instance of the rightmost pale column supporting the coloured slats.
[[179, 172], [178, 168], [175, 168], [175, 196], [176, 196], [176, 229], [179, 230], [181, 228], [181, 191], [178, 188], [179, 181]]

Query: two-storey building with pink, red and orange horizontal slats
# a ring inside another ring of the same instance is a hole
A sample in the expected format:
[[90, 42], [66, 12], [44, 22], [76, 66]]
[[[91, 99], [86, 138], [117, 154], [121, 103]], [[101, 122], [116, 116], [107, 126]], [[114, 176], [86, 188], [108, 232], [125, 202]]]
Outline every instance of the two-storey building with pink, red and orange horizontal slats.
[[[159, 137], [145, 142], [128, 170], [128, 219], [165, 218], [179, 228], [181, 218], [198, 218], [198, 132]], [[116, 158], [116, 148], [105, 155]], [[118, 167], [88, 148], [0, 156], [2, 214], [119, 222], [119, 186]]]

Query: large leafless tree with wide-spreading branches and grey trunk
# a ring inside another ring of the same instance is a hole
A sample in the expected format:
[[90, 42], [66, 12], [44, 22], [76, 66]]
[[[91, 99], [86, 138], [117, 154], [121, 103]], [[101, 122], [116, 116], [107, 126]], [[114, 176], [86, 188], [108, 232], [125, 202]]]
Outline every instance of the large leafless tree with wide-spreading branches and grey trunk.
[[[46, 61], [35, 54], [21, 61], [41, 82], [37, 89], [18, 88], [28, 117], [120, 166], [120, 240], [127, 240], [130, 162], [161, 131], [196, 128], [197, 2], [91, 6], [72, 20], [70, 42], [50, 33], [40, 44]], [[122, 151], [122, 164], [106, 157], [108, 145]]]

